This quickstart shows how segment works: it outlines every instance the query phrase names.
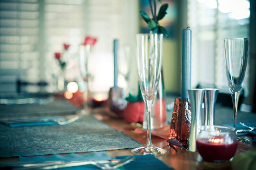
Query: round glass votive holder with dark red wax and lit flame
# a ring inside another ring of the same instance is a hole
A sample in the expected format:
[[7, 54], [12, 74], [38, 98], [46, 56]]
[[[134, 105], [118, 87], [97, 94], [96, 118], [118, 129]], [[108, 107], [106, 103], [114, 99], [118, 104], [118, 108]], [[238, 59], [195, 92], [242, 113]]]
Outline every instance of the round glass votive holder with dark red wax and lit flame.
[[234, 127], [201, 126], [196, 147], [204, 161], [229, 161], [236, 153], [238, 141]]

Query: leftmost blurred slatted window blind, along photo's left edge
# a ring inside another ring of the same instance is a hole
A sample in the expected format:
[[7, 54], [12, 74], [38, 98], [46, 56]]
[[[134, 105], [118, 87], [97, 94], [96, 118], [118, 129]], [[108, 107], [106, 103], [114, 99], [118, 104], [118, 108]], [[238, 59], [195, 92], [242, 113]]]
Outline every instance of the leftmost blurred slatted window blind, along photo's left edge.
[[38, 0], [0, 1], [1, 93], [17, 92], [18, 81], [39, 82], [38, 8]]

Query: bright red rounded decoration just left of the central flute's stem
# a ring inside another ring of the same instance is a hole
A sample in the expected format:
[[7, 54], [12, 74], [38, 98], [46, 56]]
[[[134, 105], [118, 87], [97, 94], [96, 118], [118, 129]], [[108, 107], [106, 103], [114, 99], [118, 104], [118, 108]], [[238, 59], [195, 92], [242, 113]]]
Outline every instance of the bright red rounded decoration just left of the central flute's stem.
[[128, 102], [124, 110], [124, 119], [128, 123], [143, 122], [144, 117], [144, 102]]

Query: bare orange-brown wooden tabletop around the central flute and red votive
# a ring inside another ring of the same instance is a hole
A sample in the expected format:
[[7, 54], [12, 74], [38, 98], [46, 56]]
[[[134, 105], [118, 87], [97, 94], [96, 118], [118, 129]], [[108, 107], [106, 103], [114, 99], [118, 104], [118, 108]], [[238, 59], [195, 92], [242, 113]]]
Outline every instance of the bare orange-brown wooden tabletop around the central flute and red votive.
[[[146, 135], [145, 134], [135, 134], [132, 132], [134, 127], [128, 124], [124, 119], [104, 119], [102, 120], [106, 124], [123, 131], [127, 136], [131, 136], [134, 140], [137, 140], [141, 144], [146, 144]], [[152, 144], [158, 147], [165, 147], [167, 145], [167, 140], [151, 136]], [[255, 148], [255, 144], [251, 146]], [[175, 170], [204, 170], [204, 169], [230, 169], [230, 161], [222, 163], [206, 162], [203, 161], [198, 152], [186, 151], [184, 148], [176, 147], [178, 152], [170, 147], [165, 147], [167, 153], [165, 155], [158, 156], [157, 158], [164, 161], [169, 167], [174, 168]], [[237, 153], [241, 151], [251, 150], [252, 147], [246, 144], [238, 144]], [[110, 156], [123, 156], [123, 155], [132, 155], [131, 149], [123, 150], [114, 150], [106, 151]]]

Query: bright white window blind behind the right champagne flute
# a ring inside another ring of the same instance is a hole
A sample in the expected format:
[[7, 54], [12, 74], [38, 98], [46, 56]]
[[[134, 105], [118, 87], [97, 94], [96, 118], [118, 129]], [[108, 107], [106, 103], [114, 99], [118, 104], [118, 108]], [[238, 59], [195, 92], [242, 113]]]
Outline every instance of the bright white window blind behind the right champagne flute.
[[[188, 0], [188, 25], [192, 29], [192, 86], [201, 84], [229, 93], [224, 38], [248, 38], [249, 8], [248, 0]], [[244, 89], [248, 89], [248, 70], [247, 65]]]

